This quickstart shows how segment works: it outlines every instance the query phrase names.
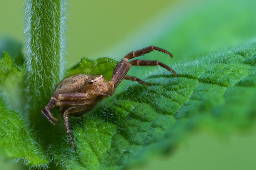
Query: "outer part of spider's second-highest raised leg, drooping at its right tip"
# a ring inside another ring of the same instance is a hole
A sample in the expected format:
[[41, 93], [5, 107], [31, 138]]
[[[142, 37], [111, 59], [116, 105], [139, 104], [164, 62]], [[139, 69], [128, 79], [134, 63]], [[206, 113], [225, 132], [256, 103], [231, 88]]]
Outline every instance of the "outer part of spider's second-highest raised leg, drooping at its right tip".
[[178, 77], [177, 73], [176, 73], [173, 69], [171, 69], [170, 67], [168, 67], [168, 66], [165, 65], [164, 63], [159, 62], [159, 61], [156, 61], [156, 60], [140, 60], [140, 59], [134, 59], [134, 60], [128, 62], [128, 64], [131, 64], [131, 65], [139, 65], [139, 66], [160, 65], [161, 67], [167, 69], [168, 71], [173, 72], [173, 74], [174, 74], [175, 77]]

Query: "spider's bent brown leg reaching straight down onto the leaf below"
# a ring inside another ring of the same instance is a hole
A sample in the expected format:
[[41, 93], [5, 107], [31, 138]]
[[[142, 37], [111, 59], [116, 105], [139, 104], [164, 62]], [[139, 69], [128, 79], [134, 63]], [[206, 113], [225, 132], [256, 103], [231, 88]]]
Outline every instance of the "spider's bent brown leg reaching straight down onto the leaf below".
[[68, 108], [64, 114], [63, 114], [63, 120], [64, 120], [64, 125], [65, 125], [65, 130], [66, 130], [66, 133], [67, 135], [69, 136], [69, 139], [70, 139], [70, 142], [71, 142], [71, 145], [73, 147], [73, 149], [75, 149], [75, 145], [74, 145], [74, 140], [72, 138], [72, 135], [70, 133], [70, 125], [69, 125], [69, 117], [68, 117], [68, 114], [69, 113], [74, 113], [74, 112], [78, 112], [78, 111], [82, 111], [84, 110], [86, 107], [85, 106], [75, 106], [75, 107], [71, 107], [71, 108]]

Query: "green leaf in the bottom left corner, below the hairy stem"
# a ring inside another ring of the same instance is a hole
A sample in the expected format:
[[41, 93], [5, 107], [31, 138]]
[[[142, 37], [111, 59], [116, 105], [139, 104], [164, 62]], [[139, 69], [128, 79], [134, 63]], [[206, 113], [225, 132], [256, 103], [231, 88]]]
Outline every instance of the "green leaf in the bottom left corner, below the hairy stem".
[[49, 157], [37, 143], [35, 133], [17, 111], [0, 98], [0, 153], [6, 159], [22, 159], [29, 167], [48, 167]]

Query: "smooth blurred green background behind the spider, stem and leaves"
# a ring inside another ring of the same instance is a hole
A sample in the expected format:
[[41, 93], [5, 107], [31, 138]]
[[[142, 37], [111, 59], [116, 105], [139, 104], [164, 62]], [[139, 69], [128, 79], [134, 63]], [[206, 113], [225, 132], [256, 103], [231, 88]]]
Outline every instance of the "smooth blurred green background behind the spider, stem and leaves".
[[[72, 0], [68, 2], [70, 6], [68, 7], [69, 16], [67, 16], [66, 35], [68, 38], [65, 56], [67, 68], [79, 62], [81, 57], [95, 59], [108, 56], [121, 59], [128, 52], [147, 45], [165, 48], [173, 53], [174, 58], [153, 52], [143, 57], [144, 59], [157, 59], [167, 64], [180, 61], [190, 62], [212, 51], [218, 52], [218, 49], [233, 47], [256, 38], [255, 0], [215, 0], [214, 2], [206, 0]], [[1, 1], [0, 3], [0, 37], [2, 37], [0, 50], [10, 50], [13, 57], [20, 56], [20, 53], [17, 52], [18, 50], [14, 51], [13, 48], [7, 49], [8, 43], [15, 44], [16, 49], [24, 52], [20, 45], [25, 46], [24, 4], [24, 0]], [[11, 37], [12, 40], [6, 36]], [[140, 71], [147, 72], [153, 70], [154, 68], [140, 69]], [[130, 73], [136, 76], [142, 74], [136, 71], [136, 68], [132, 68]], [[218, 168], [225, 169], [227, 164], [233, 164], [241, 156], [239, 153], [237, 156], [233, 153], [234, 148], [245, 148], [248, 152], [245, 151], [242, 154], [247, 155], [248, 158], [253, 156], [249, 148], [255, 148], [253, 146], [256, 143], [255, 129], [247, 136], [245, 135], [246, 137], [234, 135], [235, 137], [230, 137], [232, 140], [228, 144], [227, 141], [223, 142], [209, 135], [196, 136], [191, 139], [195, 145], [192, 146], [188, 142], [184, 144], [186, 147], [181, 147], [181, 150], [170, 159], [168, 156], [165, 159], [170, 161], [172, 168], [182, 165], [182, 168], [191, 169], [197, 167], [199, 162], [201, 166], [204, 164], [207, 166], [208, 161], [213, 160], [220, 165]], [[213, 143], [209, 144], [209, 141]], [[209, 152], [201, 149], [212, 148], [212, 145], [218, 147]], [[233, 147], [228, 147], [230, 145]], [[220, 152], [224, 149], [220, 148], [227, 148], [225, 158], [232, 159], [215, 159], [222, 155]], [[253, 151], [256, 153], [255, 149]], [[209, 157], [209, 159], [198, 161], [196, 164], [195, 161], [184, 164], [187, 159], [194, 160], [197, 157], [198, 159]], [[233, 159], [234, 157], [236, 159]], [[24, 169], [23, 166], [14, 164], [13, 161], [6, 162], [1, 157], [0, 160], [0, 170]], [[155, 169], [154, 164], [151, 165], [150, 167]]]

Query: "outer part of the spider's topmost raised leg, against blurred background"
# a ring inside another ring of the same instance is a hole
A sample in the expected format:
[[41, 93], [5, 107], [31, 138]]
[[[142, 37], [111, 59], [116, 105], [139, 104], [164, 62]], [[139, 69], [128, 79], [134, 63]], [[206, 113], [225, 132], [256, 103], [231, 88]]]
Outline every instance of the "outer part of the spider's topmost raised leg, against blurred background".
[[156, 47], [154, 45], [151, 45], [151, 46], [148, 46], [146, 48], [142, 48], [142, 49], [137, 50], [137, 51], [129, 52], [128, 54], [126, 54], [126, 56], [124, 58], [133, 59], [134, 57], [142, 56], [143, 54], [147, 54], [147, 53], [149, 53], [153, 50], [161, 51], [164, 54], [168, 54], [170, 57], [173, 57], [173, 54], [171, 54], [169, 51], [164, 50], [163, 48], [159, 48], [159, 47]]

